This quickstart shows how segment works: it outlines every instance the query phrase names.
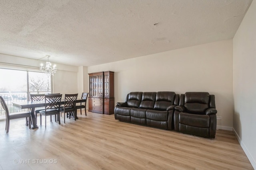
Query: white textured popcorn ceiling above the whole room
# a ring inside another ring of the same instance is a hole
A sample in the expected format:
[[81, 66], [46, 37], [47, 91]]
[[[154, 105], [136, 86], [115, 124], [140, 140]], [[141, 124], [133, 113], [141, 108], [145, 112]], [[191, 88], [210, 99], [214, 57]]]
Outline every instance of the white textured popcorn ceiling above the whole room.
[[251, 2], [0, 0], [0, 53], [92, 66], [230, 39]]

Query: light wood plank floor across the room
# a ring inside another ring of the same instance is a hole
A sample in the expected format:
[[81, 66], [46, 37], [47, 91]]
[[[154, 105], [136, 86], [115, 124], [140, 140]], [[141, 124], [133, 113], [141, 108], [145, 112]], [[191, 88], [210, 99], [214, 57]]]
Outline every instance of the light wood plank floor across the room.
[[217, 130], [215, 139], [205, 139], [120, 122], [114, 115], [78, 117], [65, 124], [61, 117], [61, 125], [48, 117], [47, 127], [38, 129], [13, 120], [8, 134], [0, 122], [0, 169], [253, 170], [232, 131]]

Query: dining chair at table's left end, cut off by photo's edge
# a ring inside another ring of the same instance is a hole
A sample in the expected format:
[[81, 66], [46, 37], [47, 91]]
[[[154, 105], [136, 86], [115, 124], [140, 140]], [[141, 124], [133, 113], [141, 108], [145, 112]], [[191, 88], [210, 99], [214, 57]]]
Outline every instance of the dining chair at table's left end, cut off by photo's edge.
[[4, 101], [4, 98], [0, 96], [0, 102], [2, 105], [2, 108], [5, 111], [5, 130], [6, 133], [9, 133], [10, 129], [10, 120], [12, 119], [19, 119], [19, 118], [26, 118], [26, 125], [29, 125], [29, 129], [31, 128], [31, 114], [29, 112], [16, 112], [16, 113], [9, 113], [8, 107]]

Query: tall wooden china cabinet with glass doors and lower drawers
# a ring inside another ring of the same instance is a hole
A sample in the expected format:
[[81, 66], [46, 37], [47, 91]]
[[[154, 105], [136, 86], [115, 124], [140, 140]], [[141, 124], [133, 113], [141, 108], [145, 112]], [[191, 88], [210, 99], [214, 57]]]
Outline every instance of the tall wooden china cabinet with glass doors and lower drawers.
[[114, 114], [114, 72], [89, 74], [89, 109], [93, 113]]

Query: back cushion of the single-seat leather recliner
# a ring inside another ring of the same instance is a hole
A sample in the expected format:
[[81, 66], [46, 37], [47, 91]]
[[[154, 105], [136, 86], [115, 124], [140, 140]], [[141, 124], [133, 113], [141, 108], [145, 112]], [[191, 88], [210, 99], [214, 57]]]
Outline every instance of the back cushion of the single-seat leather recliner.
[[186, 92], [184, 107], [188, 113], [205, 114], [209, 108], [210, 94], [208, 92]]

